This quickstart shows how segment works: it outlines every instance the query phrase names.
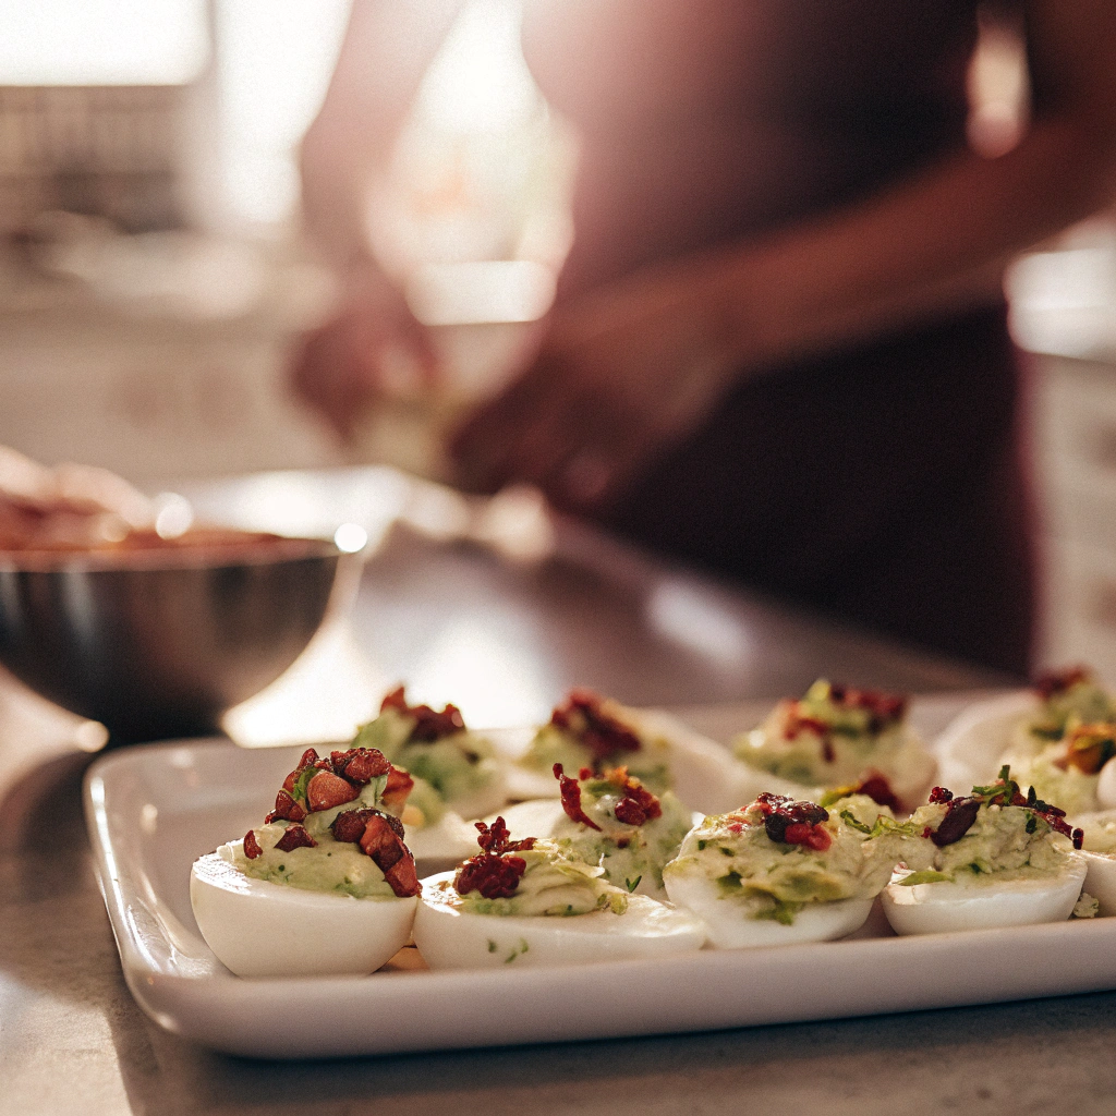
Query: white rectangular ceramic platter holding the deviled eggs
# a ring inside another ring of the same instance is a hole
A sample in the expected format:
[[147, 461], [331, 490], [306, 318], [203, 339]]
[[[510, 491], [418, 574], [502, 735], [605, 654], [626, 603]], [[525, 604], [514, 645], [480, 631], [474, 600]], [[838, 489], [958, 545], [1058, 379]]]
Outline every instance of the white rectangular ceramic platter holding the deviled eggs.
[[[964, 701], [916, 701], [932, 737]], [[692, 710], [727, 739], [766, 706]], [[260, 821], [298, 748], [186, 741], [108, 754], [86, 817], [124, 975], [167, 1030], [230, 1054], [312, 1058], [712, 1030], [1116, 989], [1116, 917], [554, 969], [242, 980], [190, 910], [190, 865]]]

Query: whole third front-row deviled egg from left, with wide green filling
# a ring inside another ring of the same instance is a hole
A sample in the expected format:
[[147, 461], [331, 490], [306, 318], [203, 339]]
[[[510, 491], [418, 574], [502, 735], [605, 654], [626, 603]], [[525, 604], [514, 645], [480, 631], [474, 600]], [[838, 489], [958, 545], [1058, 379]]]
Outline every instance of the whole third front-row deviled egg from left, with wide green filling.
[[666, 894], [732, 950], [844, 937], [867, 921], [910, 830], [867, 796], [815, 802], [763, 793], [705, 818], [666, 867]]

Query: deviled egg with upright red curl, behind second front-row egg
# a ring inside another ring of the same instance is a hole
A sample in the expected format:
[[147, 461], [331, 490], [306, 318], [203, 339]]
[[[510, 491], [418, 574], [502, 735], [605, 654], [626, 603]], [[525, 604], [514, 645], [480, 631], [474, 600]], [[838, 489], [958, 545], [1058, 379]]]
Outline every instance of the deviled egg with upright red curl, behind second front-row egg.
[[653, 795], [627, 768], [595, 775], [581, 768], [554, 776], [560, 799], [518, 802], [503, 812], [512, 836], [566, 838], [574, 856], [604, 869], [608, 883], [628, 893], [665, 899], [663, 865], [693, 826], [693, 814], [670, 790]]

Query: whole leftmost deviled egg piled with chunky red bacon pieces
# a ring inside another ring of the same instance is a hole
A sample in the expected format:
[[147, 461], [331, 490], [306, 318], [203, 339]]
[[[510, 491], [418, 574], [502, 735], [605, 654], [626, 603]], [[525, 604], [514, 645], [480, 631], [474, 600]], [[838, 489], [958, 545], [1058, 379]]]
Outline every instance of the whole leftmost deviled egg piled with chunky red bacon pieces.
[[387, 810], [408, 785], [374, 749], [307, 749], [263, 825], [191, 869], [190, 903], [218, 960], [238, 977], [359, 974], [389, 960], [420, 891]]

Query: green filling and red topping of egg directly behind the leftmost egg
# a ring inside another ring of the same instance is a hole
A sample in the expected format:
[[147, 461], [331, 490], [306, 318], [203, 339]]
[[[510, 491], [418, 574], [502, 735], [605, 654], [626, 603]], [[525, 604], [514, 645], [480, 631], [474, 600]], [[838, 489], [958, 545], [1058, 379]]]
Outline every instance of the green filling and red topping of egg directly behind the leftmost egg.
[[403, 686], [381, 704], [379, 716], [362, 725], [355, 747], [377, 748], [392, 763], [423, 780], [462, 818], [480, 818], [507, 801], [504, 764], [492, 742], [465, 728], [456, 705], [441, 712], [408, 705]]

